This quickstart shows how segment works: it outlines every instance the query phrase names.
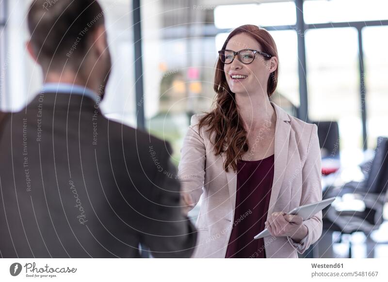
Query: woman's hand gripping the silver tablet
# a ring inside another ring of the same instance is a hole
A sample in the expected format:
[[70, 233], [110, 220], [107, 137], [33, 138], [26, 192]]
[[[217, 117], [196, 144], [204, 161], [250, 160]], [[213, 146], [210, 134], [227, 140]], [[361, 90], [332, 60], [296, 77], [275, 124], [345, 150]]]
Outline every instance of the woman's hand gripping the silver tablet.
[[307, 235], [307, 227], [303, 224], [303, 219], [285, 212], [272, 213], [265, 222], [265, 227], [271, 235], [289, 236], [295, 242], [300, 242]]

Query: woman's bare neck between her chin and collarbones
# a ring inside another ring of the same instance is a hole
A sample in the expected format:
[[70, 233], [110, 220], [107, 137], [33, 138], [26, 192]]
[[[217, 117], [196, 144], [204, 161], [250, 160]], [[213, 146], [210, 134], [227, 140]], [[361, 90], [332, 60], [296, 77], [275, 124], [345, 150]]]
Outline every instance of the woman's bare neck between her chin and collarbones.
[[246, 130], [260, 128], [268, 123], [275, 125], [276, 113], [267, 93], [236, 93], [235, 97], [239, 115]]

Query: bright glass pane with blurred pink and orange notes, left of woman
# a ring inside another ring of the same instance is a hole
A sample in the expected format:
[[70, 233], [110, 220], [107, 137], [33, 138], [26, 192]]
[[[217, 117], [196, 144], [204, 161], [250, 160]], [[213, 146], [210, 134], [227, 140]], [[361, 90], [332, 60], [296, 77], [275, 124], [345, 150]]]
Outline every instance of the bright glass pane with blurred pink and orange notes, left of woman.
[[[210, 110], [218, 54], [214, 37], [198, 34], [187, 38], [190, 28], [201, 30], [201, 19], [191, 27], [188, 24], [179, 28], [172, 25], [167, 35], [162, 32], [166, 22], [174, 23], [182, 16], [187, 19], [188, 13], [187, 9], [177, 8], [172, 15], [161, 13], [163, 9], [160, 2], [145, 4], [143, 9], [146, 128], [151, 134], [170, 142], [172, 160], [178, 165], [191, 116]], [[206, 16], [206, 13], [190, 11], [199, 17]], [[155, 20], [157, 18], [160, 20]]]

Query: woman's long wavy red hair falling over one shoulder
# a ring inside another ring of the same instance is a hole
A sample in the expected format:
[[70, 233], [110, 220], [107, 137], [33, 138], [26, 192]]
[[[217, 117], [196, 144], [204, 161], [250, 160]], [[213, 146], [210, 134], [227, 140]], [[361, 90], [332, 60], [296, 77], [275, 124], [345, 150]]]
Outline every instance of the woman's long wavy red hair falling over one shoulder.
[[[239, 33], [246, 33], [251, 36], [260, 44], [262, 52], [278, 58], [277, 48], [272, 36], [268, 31], [255, 25], [243, 25], [233, 30], [226, 38], [222, 49], [225, 49], [229, 40]], [[263, 58], [264, 60], [270, 60], [267, 57]], [[268, 96], [275, 92], [278, 74], [279, 64], [268, 78]], [[241, 159], [242, 155], [249, 149], [247, 132], [239, 119], [235, 94], [230, 91], [226, 82], [224, 63], [219, 58], [216, 63], [213, 88], [216, 92], [214, 109], [200, 119], [198, 126], [199, 129], [202, 126], [206, 126], [207, 131], [210, 131], [210, 135], [213, 132], [215, 133], [213, 141], [215, 155], [221, 155], [226, 152], [224, 170], [227, 172], [231, 168], [234, 172], [237, 172], [237, 160]]]

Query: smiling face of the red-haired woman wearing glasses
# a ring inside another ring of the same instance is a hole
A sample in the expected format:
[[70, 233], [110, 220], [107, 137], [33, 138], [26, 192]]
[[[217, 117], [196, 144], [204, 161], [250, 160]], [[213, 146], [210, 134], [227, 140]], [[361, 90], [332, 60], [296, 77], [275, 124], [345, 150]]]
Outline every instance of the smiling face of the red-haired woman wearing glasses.
[[[226, 44], [227, 50], [238, 52], [242, 49], [252, 49], [262, 51], [259, 43], [247, 35], [239, 33], [230, 38]], [[224, 64], [226, 82], [233, 93], [254, 93], [267, 92], [268, 78], [274, 71], [271, 61], [263, 55], [256, 54], [255, 59], [250, 64], [244, 64], [235, 56], [232, 63]]]

